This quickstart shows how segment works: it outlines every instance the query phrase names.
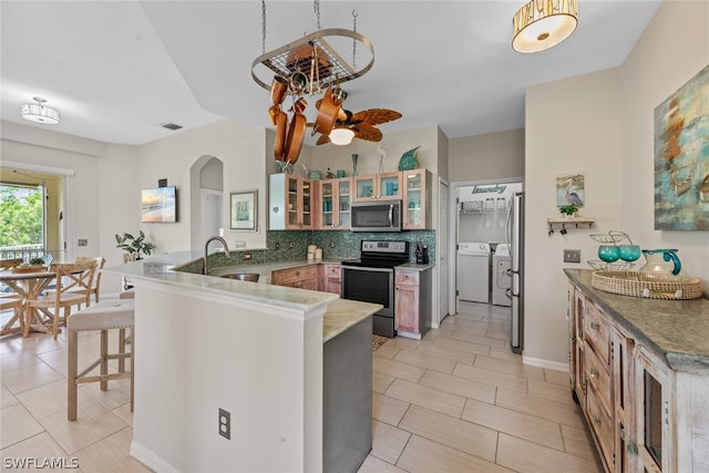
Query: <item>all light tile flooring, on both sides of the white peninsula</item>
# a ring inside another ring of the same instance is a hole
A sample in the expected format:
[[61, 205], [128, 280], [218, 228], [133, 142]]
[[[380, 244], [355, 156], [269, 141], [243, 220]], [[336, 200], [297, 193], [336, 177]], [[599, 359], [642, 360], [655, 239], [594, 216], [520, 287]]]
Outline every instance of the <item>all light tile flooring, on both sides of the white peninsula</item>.
[[[603, 471], [567, 373], [522, 364], [507, 312], [462, 304], [423, 340], [374, 352], [373, 449], [360, 473]], [[2, 467], [61, 459], [78, 472], [150, 471], [129, 454], [127, 380], [80, 387], [79, 418], [66, 421], [66, 347], [65, 330], [0, 339]], [[97, 350], [97, 333], [82, 333], [80, 367]]]

